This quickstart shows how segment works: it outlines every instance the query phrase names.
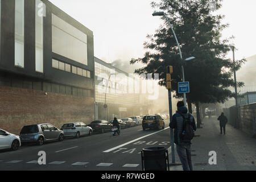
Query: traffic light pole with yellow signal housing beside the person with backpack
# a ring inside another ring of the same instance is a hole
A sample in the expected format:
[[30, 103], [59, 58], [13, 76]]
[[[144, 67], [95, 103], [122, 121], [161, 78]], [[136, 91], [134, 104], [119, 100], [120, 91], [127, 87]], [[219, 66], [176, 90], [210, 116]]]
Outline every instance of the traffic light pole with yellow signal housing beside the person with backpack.
[[[168, 98], [169, 98], [169, 115], [170, 115], [170, 122], [172, 119], [172, 86], [171, 86], [171, 74], [172, 74], [172, 66], [167, 67], [167, 74], [166, 74], [166, 86], [168, 89]], [[175, 154], [174, 154], [174, 129], [171, 129], [171, 150], [172, 150], [172, 164], [175, 164]]]

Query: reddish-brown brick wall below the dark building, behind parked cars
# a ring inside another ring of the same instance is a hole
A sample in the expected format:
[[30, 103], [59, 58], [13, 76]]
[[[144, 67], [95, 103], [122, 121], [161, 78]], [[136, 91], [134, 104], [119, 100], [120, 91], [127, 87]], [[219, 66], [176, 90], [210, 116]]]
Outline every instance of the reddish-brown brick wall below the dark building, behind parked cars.
[[25, 125], [51, 123], [60, 129], [63, 123], [90, 123], [94, 100], [79, 96], [0, 86], [0, 128], [13, 134]]

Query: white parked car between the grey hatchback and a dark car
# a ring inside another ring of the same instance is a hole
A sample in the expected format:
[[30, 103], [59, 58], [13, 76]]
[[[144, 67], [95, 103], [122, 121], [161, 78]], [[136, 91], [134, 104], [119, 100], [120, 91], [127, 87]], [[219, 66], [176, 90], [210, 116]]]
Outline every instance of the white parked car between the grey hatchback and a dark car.
[[65, 123], [61, 129], [64, 132], [64, 137], [76, 137], [81, 135], [92, 135], [93, 129], [83, 122]]

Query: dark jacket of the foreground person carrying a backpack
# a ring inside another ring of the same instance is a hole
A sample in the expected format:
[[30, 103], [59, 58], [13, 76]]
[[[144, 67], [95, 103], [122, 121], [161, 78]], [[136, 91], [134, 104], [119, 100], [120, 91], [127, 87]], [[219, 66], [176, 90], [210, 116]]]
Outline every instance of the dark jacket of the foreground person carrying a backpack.
[[[188, 109], [187, 107], [183, 106], [183, 107], [180, 107], [176, 114], [174, 114], [172, 116], [172, 119], [171, 119], [171, 122], [170, 122], [170, 127], [171, 129], [174, 129], [174, 143], [176, 144], [182, 144], [180, 142], [180, 135], [182, 133], [182, 130], [183, 130], [183, 122], [184, 122], [184, 119], [183, 117], [181, 116], [182, 113], [185, 117], [188, 117]], [[193, 115], [191, 114], [191, 122], [193, 122], [193, 130], [196, 131], [196, 122], [195, 122], [195, 118], [193, 117]]]

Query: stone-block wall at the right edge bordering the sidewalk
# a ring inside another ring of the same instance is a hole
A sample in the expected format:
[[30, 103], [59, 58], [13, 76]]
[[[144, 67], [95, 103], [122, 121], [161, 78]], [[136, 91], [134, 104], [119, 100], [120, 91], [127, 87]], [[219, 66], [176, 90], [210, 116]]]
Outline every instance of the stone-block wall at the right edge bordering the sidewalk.
[[246, 133], [256, 136], [256, 103], [240, 106], [241, 127]]

